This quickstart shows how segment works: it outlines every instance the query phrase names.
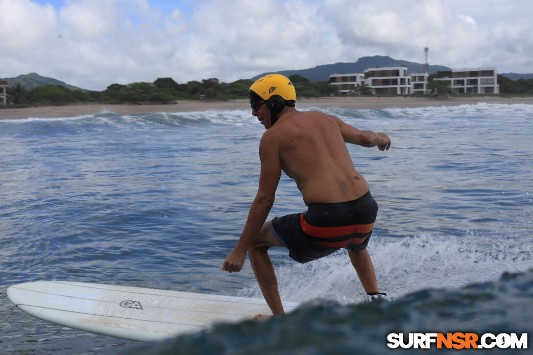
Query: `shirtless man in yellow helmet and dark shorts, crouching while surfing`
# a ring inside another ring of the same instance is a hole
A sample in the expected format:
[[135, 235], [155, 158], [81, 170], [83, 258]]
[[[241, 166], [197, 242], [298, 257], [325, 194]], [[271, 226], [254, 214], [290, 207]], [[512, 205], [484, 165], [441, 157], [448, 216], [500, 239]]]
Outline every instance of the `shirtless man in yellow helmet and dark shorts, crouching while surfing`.
[[[365, 292], [379, 293], [366, 250], [377, 204], [365, 179], [354, 169], [345, 143], [389, 150], [385, 133], [359, 131], [322, 112], [296, 110], [296, 92], [288, 78], [266, 75], [249, 89], [252, 115], [265, 127], [259, 145], [259, 189], [237, 246], [222, 270], [239, 272], [248, 253], [261, 292], [272, 314], [284, 313], [270, 247], [286, 247], [289, 256], [306, 263], [348, 249]], [[281, 171], [294, 179], [308, 210], [266, 222]], [[257, 314], [256, 319], [268, 317]]]

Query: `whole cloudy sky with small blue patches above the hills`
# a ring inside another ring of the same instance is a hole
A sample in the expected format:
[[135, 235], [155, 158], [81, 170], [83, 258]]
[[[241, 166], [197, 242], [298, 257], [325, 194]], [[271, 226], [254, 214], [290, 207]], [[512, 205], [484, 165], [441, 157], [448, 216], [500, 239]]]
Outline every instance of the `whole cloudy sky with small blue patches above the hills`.
[[533, 72], [533, 1], [0, 0], [0, 77], [223, 82], [369, 55]]

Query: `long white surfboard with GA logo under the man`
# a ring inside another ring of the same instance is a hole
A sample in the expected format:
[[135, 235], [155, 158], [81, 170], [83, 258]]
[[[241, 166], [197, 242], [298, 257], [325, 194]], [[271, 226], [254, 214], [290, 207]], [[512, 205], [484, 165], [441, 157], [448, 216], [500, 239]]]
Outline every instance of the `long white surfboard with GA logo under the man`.
[[[196, 332], [217, 322], [272, 314], [263, 299], [66, 281], [7, 288], [17, 308], [62, 326], [133, 341]], [[286, 312], [298, 304], [283, 302]]]

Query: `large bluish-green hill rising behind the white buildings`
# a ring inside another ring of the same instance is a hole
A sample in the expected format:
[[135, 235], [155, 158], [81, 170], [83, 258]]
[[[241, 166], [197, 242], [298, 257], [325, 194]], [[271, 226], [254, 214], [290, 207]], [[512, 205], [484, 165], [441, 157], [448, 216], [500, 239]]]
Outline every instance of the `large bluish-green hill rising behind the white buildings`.
[[[395, 60], [391, 57], [384, 57], [383, 55], [375, 55], [374, 57], [361, 57], [357, 62], [351, 63], [335, 63], [335, 64], [325, 64], [322, 66], [316, 66], [309, 69], [300, 69], [300, 70], [282, 70], [276, 71], [279, 74], [289, 77], [293, 74], [300, 74], [312, 82], [321, 82], [329, 81], [330, 74], [342, 74], [342, 73], [355, 73], [360, 72], [364, 73], [365, 69], [375, 68], [375, 67], [407, 67], [407, 71], [411, 72], [424, 72], [424, 64], [408, 62], [406, 60]], [[429, 66], [429, 74], [434, 74], [440, 70], [451, 70], [448, 67], [444, 66]], [[252, 80], [257, 80], [260, 77], [271, 74], [272, 72], [264, 72], [263, 74], [257, 75], [252, 78]]]

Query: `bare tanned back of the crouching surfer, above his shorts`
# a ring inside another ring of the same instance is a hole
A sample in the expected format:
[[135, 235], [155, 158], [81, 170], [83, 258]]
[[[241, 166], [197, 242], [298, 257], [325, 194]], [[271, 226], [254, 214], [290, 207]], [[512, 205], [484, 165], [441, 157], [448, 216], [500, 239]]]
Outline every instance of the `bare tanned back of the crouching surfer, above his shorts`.
[[368, 191], [332, 116], [287, 110], [264, 134], [277, 142], [281, 168], [294, 179], [306, 205], [354, 200]]

